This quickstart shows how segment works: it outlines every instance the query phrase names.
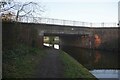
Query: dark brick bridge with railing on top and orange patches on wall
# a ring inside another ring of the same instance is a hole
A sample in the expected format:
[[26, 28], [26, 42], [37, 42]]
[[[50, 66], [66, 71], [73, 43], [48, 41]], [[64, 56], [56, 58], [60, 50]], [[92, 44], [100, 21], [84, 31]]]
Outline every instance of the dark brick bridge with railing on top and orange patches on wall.
[[[17, 23], [17, 25], [16, 25]], [[36, 44], [43, 46], [44, 36], [58, 36], [60, 48], [75, 46], [92, 49], [118, 50], [117, 23], [87, 23], [40, 17], [19, 17], [18, 22], [3, 26], [20, 27], [20, 39], [32, 44], [32, 29], [37, 32]]]

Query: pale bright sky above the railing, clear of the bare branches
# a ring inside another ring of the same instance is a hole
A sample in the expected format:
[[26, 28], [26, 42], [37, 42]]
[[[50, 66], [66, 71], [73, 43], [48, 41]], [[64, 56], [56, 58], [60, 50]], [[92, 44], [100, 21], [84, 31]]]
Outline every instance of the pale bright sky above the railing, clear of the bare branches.
[[44, 6], [45, 12], [42, 13], [42, 17], [92, 23], [118, 22], [119, 0], [39, 0], [39, 1], [28, 0], [28, 1], [36, 1], [38, 3], [40, 2], [41, 5]]

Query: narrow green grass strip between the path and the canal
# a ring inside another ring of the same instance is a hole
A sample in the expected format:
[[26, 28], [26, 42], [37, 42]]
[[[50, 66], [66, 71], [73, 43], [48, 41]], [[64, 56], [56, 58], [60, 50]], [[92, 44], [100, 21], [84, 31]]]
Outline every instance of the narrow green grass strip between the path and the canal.
[[96, 78], [84, 66], [67, 53], [61, 51], [60, 57], [65, 66], [65, 78], [85, 78], [85, 80], [92, 78], [92, 80], [96, 80]]

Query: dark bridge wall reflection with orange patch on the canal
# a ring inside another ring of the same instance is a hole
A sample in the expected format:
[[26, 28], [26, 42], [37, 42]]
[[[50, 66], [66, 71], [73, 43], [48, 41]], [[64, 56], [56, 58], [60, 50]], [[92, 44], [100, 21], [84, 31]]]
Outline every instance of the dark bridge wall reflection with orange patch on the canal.
[[63, 50], [73, 56], [87, 69], [118, 69], [118, 54], [105, 51], [64, 47]]

